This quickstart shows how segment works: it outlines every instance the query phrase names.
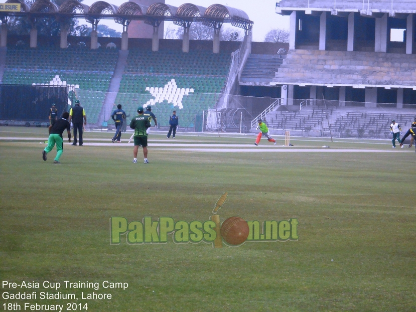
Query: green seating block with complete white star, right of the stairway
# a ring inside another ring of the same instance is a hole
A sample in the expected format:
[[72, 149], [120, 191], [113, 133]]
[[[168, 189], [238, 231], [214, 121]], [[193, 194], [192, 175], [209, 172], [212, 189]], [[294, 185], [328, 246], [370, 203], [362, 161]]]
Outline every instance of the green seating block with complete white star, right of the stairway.
[[113, 108], [121, 104], [134, 115], [138, 106], [152, 105], [162, 126], [176, 109], [181, 127], [193, 127], [195, 115], [215, 106], [229, 65], [229, 52], [131, 49]]

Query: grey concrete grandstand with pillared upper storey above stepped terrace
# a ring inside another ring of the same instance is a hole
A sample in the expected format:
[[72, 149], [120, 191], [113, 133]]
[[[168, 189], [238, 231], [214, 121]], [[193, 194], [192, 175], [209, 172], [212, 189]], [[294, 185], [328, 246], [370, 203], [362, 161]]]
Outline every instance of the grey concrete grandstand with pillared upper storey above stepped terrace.
[[288, 99], [414, 108], [414, 1], [282, 0], [275, 10], [290, 16], [290, 44], [271, 85]]

